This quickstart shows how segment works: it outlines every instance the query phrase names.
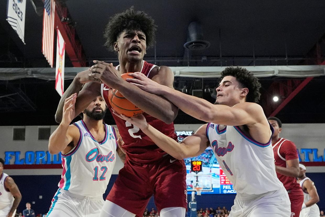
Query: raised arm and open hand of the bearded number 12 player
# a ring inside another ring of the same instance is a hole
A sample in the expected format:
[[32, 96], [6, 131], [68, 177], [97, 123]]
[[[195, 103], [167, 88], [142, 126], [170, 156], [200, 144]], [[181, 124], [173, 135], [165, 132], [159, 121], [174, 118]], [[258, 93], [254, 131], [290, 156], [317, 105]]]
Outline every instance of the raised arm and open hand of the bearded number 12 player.
[[75, 96], [76, 94], [72, 94], [65, 99], [62, 109], [62, 121], [59, 124], [59, 127], [52, 133], [48, 141], [48, 151], [51, 154], [57, 154], [60, 151], [62, 151], [63, 154], [66, 154], [78, 142], [80, 136], [79, 129], [76, 126], [70, 125], [75, 116]]

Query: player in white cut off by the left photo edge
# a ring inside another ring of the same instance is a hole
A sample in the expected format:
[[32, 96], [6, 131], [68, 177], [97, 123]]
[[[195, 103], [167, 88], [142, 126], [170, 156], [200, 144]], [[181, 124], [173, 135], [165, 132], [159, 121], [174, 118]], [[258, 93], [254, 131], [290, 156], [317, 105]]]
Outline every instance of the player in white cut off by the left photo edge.
[[0, 158], [0, 217], [12, 217], [21, 200], [20, 191], [14, 180], [3, 172], [5, 161]]

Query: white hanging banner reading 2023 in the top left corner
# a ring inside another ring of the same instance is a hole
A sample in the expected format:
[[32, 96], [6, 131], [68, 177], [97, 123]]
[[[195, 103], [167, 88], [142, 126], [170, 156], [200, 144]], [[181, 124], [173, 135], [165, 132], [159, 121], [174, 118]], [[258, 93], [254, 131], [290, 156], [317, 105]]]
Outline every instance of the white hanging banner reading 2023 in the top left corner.
[[7, 0], [7, 18], [10, 26], [25, 44], [25, 11], [27, 0]]

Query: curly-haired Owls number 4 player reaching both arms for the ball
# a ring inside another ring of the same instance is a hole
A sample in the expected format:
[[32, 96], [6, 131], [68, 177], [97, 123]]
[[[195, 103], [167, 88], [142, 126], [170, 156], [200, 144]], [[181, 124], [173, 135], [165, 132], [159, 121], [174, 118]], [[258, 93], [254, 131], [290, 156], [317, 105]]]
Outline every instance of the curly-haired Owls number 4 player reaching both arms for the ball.
[[130, 75], [138, 79], [127, 81], [141, 89], [161, 95], [195, 118], [213, 122], [201, 126], [179, 144], [151, 127], [141, 115], [134, 118], [120, 115], [177, 159], [197, 156], [211, 144], [221, 168], [237, 191], [229, 216], [291, 215], [288, 193], [275, 172], [270, 145], [273, 128], [262, 107], [256, 104], [261, 85], [253, 74], [245, 68], [227, 67], [221, 73], [215, 104], [163, 87], [140, 73]]

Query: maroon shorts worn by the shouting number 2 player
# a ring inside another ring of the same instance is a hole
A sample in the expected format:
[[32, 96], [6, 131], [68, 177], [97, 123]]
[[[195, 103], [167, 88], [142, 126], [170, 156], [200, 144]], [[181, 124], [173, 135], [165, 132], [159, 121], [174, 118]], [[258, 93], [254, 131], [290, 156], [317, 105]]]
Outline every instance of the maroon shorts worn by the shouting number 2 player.
[[170, 155], [150, 163], [126, 159], [106, 199], [142, 216], [152, 195], [158, 211], [168, 207], [187, 209], [184, 160]]

